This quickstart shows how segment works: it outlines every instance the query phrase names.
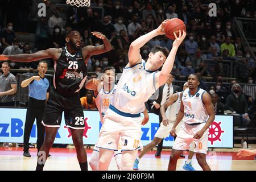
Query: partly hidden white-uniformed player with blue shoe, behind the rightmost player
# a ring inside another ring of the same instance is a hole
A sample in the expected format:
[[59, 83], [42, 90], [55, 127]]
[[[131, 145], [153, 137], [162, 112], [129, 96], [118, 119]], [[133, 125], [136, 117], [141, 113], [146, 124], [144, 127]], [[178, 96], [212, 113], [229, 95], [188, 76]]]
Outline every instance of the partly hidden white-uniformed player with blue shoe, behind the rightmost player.
[[[188, 83], [186, 82], [183, 85], [183, 90], [185, 90], [187, 88], [188, 88]], [[164, 105], [162, 105], [160, 107], [160, 113], [162, 114], [163, 121], [160, 124], [160, 127], [159, 127], [158, 131], [156, 132], [154, 139], [150, 143], [148, 143], [146, 146], [143, 147], [143, 151], [141, 152], [141, 154], [139, 154], [138, 158], [135, 159], [134, 164], [133, 164], [134, 170], [139, 169], [138, 168], [139, 160], [141, 160], [141, 158], [148, 151], [150, 151], [151, 148], [155, 147], [157, 144], [159, 144], [162, 141], [162, 139], [164, 139], [170, 135], [170, 131], [172, 129], [172, 126], [174, 125], [176, 115], [180, 109], [180, 102], [181, 102], [180, 101], [181, 100], [180, 93], [181, 92], [172, 94], [172, 96], [169, 98], [169, 100], [166, 101], [164, 103]], [[166, 110], [166, 108], [167, 108], [167, 110]], [[166, 117], [166, 115], [167, 115], [167, 117]]]

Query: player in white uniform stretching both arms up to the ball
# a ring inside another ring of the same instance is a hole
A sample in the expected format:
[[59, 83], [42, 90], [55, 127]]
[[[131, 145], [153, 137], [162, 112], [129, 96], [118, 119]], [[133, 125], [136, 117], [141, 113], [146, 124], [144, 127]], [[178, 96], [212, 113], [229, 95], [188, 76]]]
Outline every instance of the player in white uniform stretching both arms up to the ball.
[[[174, 65], [177, 48], [185, 38], [184, 31], [183, 34], [179, 32], [179, 37], [175, 34], [176, 39], [167, 58], [167, 49], [156, 46], [149, 53], [147, 62], [143, 61], [140, 48], [155, 36], [163, 35], [166, 22], [167, 20], [155, 30], [134, 40], [130, 45], [129, 63], [123, 69], [112, 104], [105, 113], [97, 143], [97, 147], [100, 148], [99, 170], [108, 170], [111, 156], [118, 148], [120, 137], [122, 140], [121, 169], [133, 170], [133, 162], [140, 148], [142, 133], [140, 114], [144, 110], [144, 102], [166, 82]], [[159, 72], [160, 67], [162, 70]]]

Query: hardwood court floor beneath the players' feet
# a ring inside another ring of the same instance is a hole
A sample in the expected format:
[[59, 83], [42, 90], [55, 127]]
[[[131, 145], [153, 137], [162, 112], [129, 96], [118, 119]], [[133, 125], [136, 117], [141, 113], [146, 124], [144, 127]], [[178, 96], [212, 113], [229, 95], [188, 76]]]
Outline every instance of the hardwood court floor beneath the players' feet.
[[[250, 145], [250, 149], [256, 145]], [[232, 149], [218, 149], [208, 152], [207, 162], [210, 168], [214, 171], [256, 171], [256, 160], [254, 156], [247, 158], [238, 158], [237, 151], [241, 148], [235, 147]], [[34, 171], [36, 167], [36, 152], [35, 148], [30, 148], [31, 158], [23, 156], [22, 147], [0, 147], [0, 170], [1, 171]], [[88, 160], [92, 155], [92, 149], [86, 149]], [[149, 171], [166, 171], [170, 158], [170, 150], [164, 150], [161, 158], [155, 158], [155, 151], [150, 151], [141, 159], [139, 170]], [[57, 171], [72, 171], [80, 170], [79, 163], [76, 159], [76, 150], [73, 148], [52, 148], [50, 151], [51, 157], [47, 159], [44, 170]], [[187, 159], [188, 152], [184, 152]], [[177, 170], [183, 171], [184, 158], [180, 158], [177, 162]], [[197, 164], [195, 156], [192, 159], [193, 167], [196, 170], [201, 170]], [[89, 167], [89, 166], [88, 166]], [[117, 170], [115, 160], [110, 163], [110, 170]], [[90, 167], [89, 167], [89, 170]]]

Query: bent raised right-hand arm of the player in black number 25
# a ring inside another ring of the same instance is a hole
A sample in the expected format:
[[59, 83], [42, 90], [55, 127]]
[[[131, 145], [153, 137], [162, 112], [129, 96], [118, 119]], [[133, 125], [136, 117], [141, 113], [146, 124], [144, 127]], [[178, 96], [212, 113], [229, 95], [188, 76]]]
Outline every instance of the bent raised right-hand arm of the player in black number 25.
[[92, 34], [97, 38], [102, 39], [103, 44], [100, 46], [85, 46], [82, 48], [82, 55], [84, 55], [85, 60], [92, 55], [99, 55], [101, 53], [111, 51], [112, 49], [112, 45], [105, 35], [101, 34], [100, 32], [92, 32]]

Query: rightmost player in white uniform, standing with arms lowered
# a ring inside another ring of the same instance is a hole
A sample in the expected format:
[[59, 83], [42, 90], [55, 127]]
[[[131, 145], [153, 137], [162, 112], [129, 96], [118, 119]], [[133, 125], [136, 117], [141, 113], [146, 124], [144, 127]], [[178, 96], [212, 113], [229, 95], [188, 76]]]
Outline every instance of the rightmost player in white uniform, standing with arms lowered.
[[[204, 171], [210, 170], [206, 161], [208, 127], [213, 122], [215, 115], [210, 95], [199, 88], [200, 78], [191, 74], [188, 76], [188, 89], [181, 93], [180, 110], [177, 114], [171, 135], [176, 135], [176, 126], [181, 119], [184, 123], [172, 147], [172, 153], [168, 165], [168, 170], [176, 169], [177, 159], [184, 150], [189, 149], [189, 145], [194, 142], [193, 152], [196, 152], [196, 159]], [[183, 118], [184, 117], [184, 118]]]

